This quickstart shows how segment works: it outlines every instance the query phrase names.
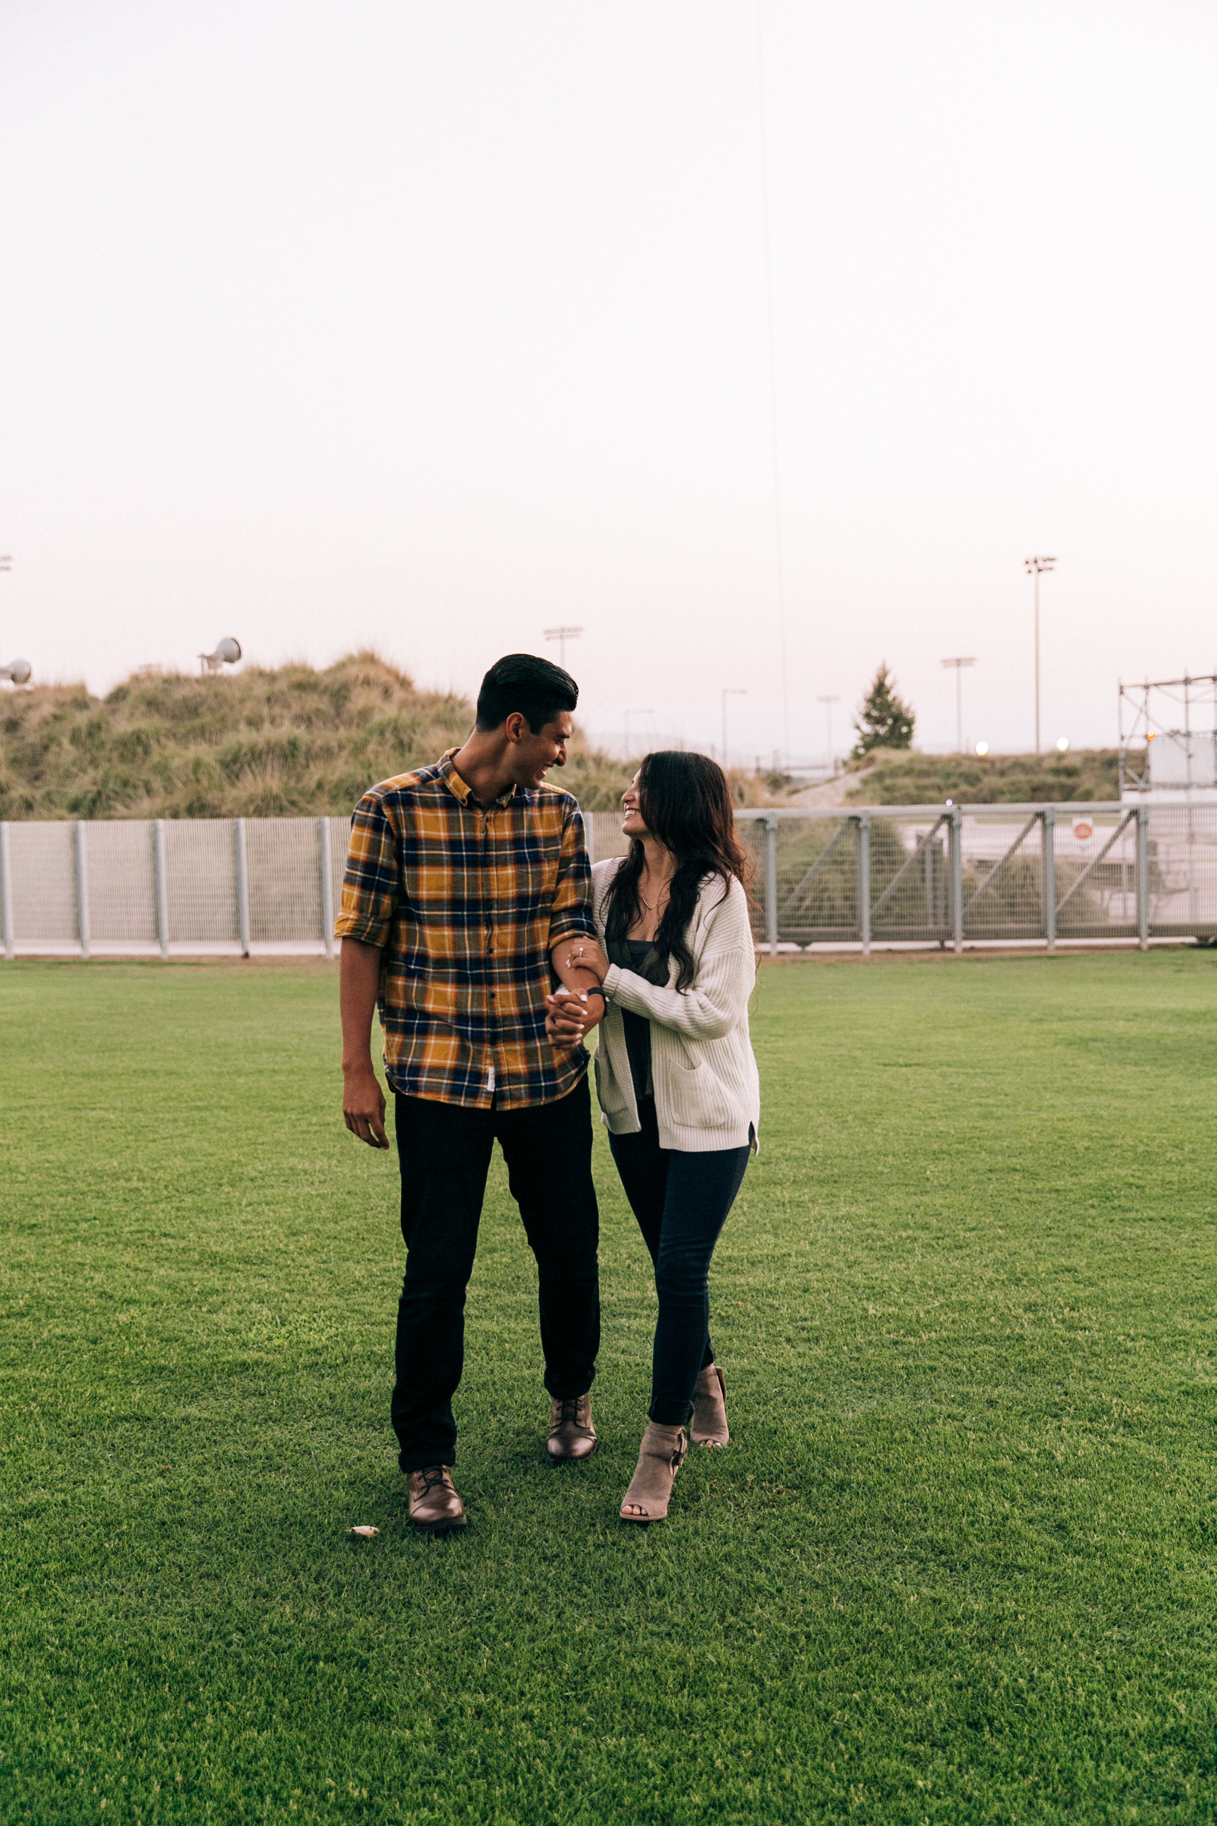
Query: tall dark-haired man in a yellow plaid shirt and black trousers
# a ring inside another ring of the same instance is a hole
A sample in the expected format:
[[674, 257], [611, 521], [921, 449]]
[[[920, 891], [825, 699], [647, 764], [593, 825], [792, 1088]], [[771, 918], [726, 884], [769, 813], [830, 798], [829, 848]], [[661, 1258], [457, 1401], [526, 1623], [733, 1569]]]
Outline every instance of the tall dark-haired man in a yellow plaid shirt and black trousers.
[[509, 654], [485, 674], [463, 747], [363, 794], [350, 827], [341, 939], [343, 1116], [387, 1149], [372, 1013], [396, 1097], [405, 1284], [392, 1424], [411, 1521], [463, 1527], [452, 1395], [465, 1287], [498, 1139], [536, 1256], [551, 1395], [549, 1455], [595, 1452], [588, 1390], [600, 1344], [598, 1212], [588, 1054], [546, 1035], [555, 979], [604, 1012], [578, 803], [566, 763], [575, 679]]

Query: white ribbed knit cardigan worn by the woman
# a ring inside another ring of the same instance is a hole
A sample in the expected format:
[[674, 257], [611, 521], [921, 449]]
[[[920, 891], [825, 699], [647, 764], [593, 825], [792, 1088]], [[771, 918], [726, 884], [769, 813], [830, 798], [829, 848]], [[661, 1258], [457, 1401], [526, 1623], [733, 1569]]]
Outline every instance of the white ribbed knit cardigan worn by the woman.
[[[604, 944], [608, 887], [620, 856], [593, 864], [593, 906]], [[677, 964], [668, 960], [668, 986], [648, 982], [633, 970], [609, 964], [608, 1008], [597, 1043], [597, 1097], [600, 1121], [615, 1136], [637, 1134], [622, 1008], [651, 1023], [651, 1081], [659, 1145], [684, 1154], [757, 1145], [761, 1079], [748, 1039], [748, 997], [757, 960], [748, 918], [748, 897], [739, 882], [723, 893], [712, 876], [697, 895], [688, 929], [693, 981], [677, 990]]]

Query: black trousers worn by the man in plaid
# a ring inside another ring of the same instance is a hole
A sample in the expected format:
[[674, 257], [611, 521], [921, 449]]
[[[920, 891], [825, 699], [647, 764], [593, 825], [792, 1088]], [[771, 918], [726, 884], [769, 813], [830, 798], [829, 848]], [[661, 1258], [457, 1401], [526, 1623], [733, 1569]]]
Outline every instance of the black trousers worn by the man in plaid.
[[465, 1110], [398, 1094], [401, 1234], [392, 1428], [401, 1470], [456, 1463], [452, 1395], [465, 1366], [465, 1287], [494, 1141], [507, 1161], [540, 1280], [546, 1388], [586, 1395], [600, 1348], [598, 1212], [588, 1077], [558, 1103]]

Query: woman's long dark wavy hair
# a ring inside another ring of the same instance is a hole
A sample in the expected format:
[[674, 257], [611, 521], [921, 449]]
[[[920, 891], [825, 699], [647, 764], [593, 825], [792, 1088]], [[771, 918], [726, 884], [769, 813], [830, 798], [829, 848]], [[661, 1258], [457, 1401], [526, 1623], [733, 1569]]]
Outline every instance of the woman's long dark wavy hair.
[[[688, 990], [693, 981], [693, 953], [686, 935], [697, 893], [710, 875], [723, 882], [724, 898], [732, 880], [746, 887], [752, 858], [735, 836], [735, 807], [726, 774], [704, 754], [684, 754], [679, 749], [648, 754], [639, 769], [639, 811], [646, 829], [675, 856], [677, 869], [655, 933], [655, 950], [664, 962], [675, 957], [677, 990]], [[624, 939], [640, 913], [639, 878], [644, 862], [642, 840], [635, 836], [609, 884], [609, 939]]]

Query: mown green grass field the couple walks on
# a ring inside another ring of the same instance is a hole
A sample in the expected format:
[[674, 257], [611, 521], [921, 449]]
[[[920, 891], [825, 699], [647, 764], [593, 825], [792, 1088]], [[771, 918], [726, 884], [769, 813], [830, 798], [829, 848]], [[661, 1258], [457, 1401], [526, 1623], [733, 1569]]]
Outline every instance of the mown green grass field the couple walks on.
[[332, 966], [2, 966], [0, 1819], [1210, 1821], [1215, 1015], [1201, 951], [766, 968], [730, 1452], [617, 1521], [600, 1136], [602, 1450], [546, 1463], [496, 1167], [420, 1539]]

